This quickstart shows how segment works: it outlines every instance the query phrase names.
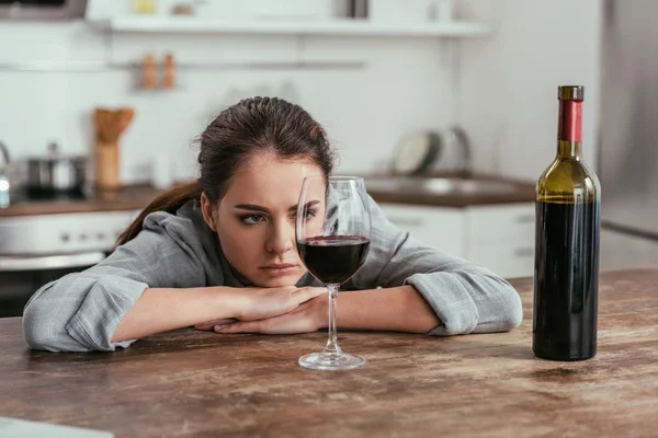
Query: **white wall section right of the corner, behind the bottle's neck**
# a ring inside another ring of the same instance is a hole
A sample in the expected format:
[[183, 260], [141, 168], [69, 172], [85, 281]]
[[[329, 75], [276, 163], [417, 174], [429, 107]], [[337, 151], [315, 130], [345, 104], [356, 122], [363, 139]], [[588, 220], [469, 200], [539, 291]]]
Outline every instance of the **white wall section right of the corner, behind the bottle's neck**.
[[595, 169], [600, 0], [470, 0], [490, 38], [461, 43], [455, 117], [475, 168], [536, 182], [556, 151], [557, 87], [583, 84], [583, 157]]

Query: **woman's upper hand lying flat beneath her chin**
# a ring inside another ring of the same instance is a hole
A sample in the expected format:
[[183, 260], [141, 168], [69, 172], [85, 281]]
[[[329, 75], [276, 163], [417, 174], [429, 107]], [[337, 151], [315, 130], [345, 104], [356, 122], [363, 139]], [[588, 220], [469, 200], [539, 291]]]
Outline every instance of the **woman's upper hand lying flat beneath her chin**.
[[296, 310], [299, 304], [322, 295], [321, 287], [285, 286], [277, 288], [230, 288], [224, 297], [226, 307], [234, 309], [235, 318], [205, 321], [194, 325], [197, 330], [211, 330], [235, 321], [266, 320]]

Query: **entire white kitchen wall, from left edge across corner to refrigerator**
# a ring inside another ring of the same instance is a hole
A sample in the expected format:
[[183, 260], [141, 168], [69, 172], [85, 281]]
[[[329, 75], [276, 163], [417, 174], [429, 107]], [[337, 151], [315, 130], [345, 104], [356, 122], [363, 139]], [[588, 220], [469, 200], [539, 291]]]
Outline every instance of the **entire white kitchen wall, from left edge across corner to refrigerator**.
[[[327, 2], [314, 1], [318, 8]], [[128, 3], [105, 4], [125, 13]], [[556, 88], [581, 83], [585, 158], [593, 165], [600, 0], [465, 0], [463, 10], [491, 22], [494, 32], [457, 43], [453, 65], [445, 41], [432, 38], [111, 35], [83, 22], [0, 22], [0, 65], [139, 61], [147, 51], [159, 57], [172, 50], [192, 62], [310, 59], [366, 66], [179, 70], [180, 89], [170, 92], [136, 89], [131, 70], [27, 73], [0, 67], [0, 140], [16, 157], [41, 153], [49, 140], [69, 153], [87, 153], [93, 107], [129, 105], [137, 116], [122, 142], [124, 182], [147, 181], [154, 155], [162, 151], [180, 157], [175, 173], [182, 178], [195, 173], [191, 139], [214, 115], [240, 97], [269, 94], [298, 102], [326, 126], [343, 172], [379, 169], [404, 134], [456, 120], [473, 139], [476, 170], [536, 181], [555, 153]]]

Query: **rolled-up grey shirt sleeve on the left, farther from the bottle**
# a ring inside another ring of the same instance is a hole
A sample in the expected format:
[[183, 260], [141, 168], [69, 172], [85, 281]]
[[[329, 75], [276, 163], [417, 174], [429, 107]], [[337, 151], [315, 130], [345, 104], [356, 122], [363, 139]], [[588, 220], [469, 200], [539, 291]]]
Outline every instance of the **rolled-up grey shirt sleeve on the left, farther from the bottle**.
[[145, 289], [205, 286], [203, 251], [186, 235], [186, 222], [151, 214], [144, 230], [106, 260], [38, 289], [23, 314], [27, 344], [50, 351], [111, 351], [135, 342], [111, 338]]

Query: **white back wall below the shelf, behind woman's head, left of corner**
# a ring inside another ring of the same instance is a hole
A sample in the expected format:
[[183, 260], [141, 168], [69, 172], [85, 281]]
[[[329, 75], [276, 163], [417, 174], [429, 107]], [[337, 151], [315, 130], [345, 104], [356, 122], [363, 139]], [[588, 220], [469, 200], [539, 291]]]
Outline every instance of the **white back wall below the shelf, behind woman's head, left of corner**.
[[[110, 3], [107, 3], [110, 4]], [[114, 4], [114, 3], [112, 3]], [[120, 4], [122, 11], [125, 2]], [[122, 178], [148, 181], [155, 154], [180, 157], [178, 178], [195, 174], [191, 140], [220, 110], [250, 95], [299, 103], [327, 129], [342, 172], [387, 164], [409, 130], [441, 128], [450, 117], [451, 70], [432, 38], [235, 35], [111, 35], [84, 22], [0, 22], [0, 65], [26, 61], [139, 61], [172, 50], [181, 61], [355, 60], [362, 69], [179, 70], [180, 88], [135, 88], [136, 72], [19, 72], [0, 66], [0, 140], [14, 157], [38, 154], [50, 140], [68, 153], [92, 150], [95, 106], [133, 106], [122, 139]]]

